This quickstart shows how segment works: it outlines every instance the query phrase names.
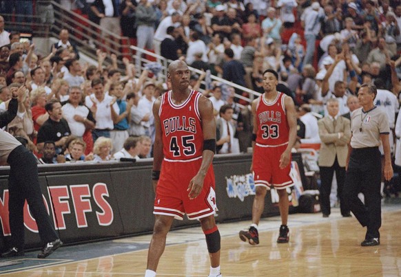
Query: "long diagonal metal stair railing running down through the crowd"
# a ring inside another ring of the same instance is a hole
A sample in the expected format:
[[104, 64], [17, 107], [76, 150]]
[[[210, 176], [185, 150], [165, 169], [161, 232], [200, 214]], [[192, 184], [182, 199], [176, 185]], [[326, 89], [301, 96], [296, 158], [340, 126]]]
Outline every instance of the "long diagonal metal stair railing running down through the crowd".
[[[16, 21], [6, 21], [6, 29], [17, 30], [20, 32], [31, 32], [34, 37], [59, 37], [59, 32], [62, 29], [67, 29], [70, 32], [70, 40], [73, 41], [79, 49], [79, 52], [85, 53], [87, 56], [93, 60], [97, 60], [96, 49], [102, 49], [109, 54], [116, 54], [117, 57], [129, 56], [132, 60], [136, 61], [138, 54], [141, 54], [141, 64], [151, 63], [157, 60], [161, 63], [163, 70], [159, 74], [159, 80], [165, 82], [167, 80], [167, 67], [172, 60], [167, 60], [154, 52], [150, 52], [146, 49], [138, 48], [134, 45], [130, 45], [130, 38], [125, 36], [120, 36], [119, 34], [114, 34], [108, 30], [104, 30], [100, 25], [93, 23], [92, 21], [86, 19], [84, 16], [72, 12], [70, 10], [65, 10], [62, 5], [51, 2], [54, 9], [54, 24], [50, 25], [48, 23], [41, 23], [41, 18], [38, 15], [29, 16], [32, 19], [30, 23], [16, 22]], [[7, 18], [17, 18], [18, 14], [3, 14]], [[27, 16], [25, 16], [26, 18]], [[93, 41], [95, 47], [90, 47], [89, 41]], [[47, 53], [48, 54], [48, 53]], [[110, 56], [110, 55], [109, 55]], [[151, 57], [152, 59], [148, 59]], [[118, 59], [119, 66], [123, 68], [122, 58]], [[111, 60], [106, 60], [105, 63], [110, 63]], [[140, 75], [141, 70], [136, 70], [136, 74]], [[189, 69], [196, 74], [203, 74], [203, 71], [189, 67]], [[241, 87], [236, 85], [234, 82], [229, 82], [218, 76], [211, 76], [212, 80], [220, 82], [222, 84], [234, 87], [236, 91], [245, 91], [249, 93], [249, 97], [245, 97], [238, 93], [235, 93], [235, 97], [245, 102], [250, 103], [254, 98], [260, 96], [260, 93], [248, 89], [247, 87]], [[202, 81], [205, 85], [205, 80]]]

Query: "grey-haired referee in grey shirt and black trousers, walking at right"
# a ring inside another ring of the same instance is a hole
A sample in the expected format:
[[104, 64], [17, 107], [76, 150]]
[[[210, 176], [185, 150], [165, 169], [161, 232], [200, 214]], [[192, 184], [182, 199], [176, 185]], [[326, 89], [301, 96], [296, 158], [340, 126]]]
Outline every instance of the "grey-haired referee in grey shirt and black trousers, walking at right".
[[[347, 156], [344, 197], [351, 212], [367, 232], [362, 246], [380, 245], [382, 207], [380, 195], [381, 156], [380, 143], [384, 149], [384, 177], [393, 177], [389, 144], [389, 120], [386, 111], [373, 104], [377, 90], [374, 85], [363, 84], [358, 91], [362, 108], [351, 116], [351, 142]], [[358, 193], [364, 194], [364, 203]]]

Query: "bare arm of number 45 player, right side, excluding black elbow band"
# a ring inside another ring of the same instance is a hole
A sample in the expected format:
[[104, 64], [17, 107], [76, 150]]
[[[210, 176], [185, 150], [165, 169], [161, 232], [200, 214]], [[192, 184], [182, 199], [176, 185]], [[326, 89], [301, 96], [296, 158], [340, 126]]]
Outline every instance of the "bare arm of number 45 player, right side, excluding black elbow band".
[[[216, 140], [216, 121], [213, 115], [213, 105], [212, 102], [201, 96], [198, 102], [198, 109], [200, 113], [200, 120], [202, 120], [202, 132], [203, 140]], [[188, 186], [188, 197], [189, 199], [194, 199], [198, 197], [203, 188], [203, 181], [207, 170], [209, 170], [212, 164], [214, 152], [211, 150], [203, 150], [202, 164], [200, 165], [198, 173], [189, 182]]]

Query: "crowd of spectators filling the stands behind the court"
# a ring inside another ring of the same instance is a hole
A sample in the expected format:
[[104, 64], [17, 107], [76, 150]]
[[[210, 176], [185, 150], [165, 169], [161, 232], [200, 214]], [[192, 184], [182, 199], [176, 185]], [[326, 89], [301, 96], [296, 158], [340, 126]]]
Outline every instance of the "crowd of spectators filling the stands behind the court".
[[[42, 23], [54, 23], [52, 3], [33, 2], [34, 9], [25, 1], [0, 5], [0, 14], [16, 15], [7, 17], [8, 22], [28, 22], [34, 14]], [[190, 83], [212, 100], [218, 153], [245, 153], [251, 146], [250, 103], [235, 97], [249, 93], [210, 82], [208, 75], [263, 93], [262, 74], [270, 68], [279, 74], [278, 91], [298, 107], [300, 144], [320, 143], [318, 119], [327, 115], [330, 98], [337, 98], [339, 115], [350, 118], [359, 107], [360, 86], [376, 85], [376, 106], [387, 111], [391, 153], [400, 169], [400, 1], [58, 2], [130, 37], [138, 47], [205, 71], [193, 74]], [[70, 40], [73, 30], [67, 29], [47, 55], [39, 55], [32, 41], [7, 32], [4, 19], [0, 17], [0, 110], [8, 109], [13, 90], [25, 86], [21, 110], [7, 131], [25, 142], [39, 162], [152, 156], [152, 104], [169, 89], [156, 80], [152, 67], [141, 70], [139, 58], [109, 54], [91, 39], [84, 44], [98, 48], [98, 65], [87, 65]], [[125, 69], [119, 68], [119, 59]]]

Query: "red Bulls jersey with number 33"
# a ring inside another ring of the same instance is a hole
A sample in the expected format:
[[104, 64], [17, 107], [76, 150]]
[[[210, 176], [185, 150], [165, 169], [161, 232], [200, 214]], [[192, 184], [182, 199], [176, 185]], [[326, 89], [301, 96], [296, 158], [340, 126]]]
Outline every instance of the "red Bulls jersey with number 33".
[[289, 125], [285, 113], [285, 94], [278, 91], [276, 99], [268, 103], [263, 93], [256, 104], [256, 122], [258, 132], [256, 143], [279, 146], [288, 143]]

